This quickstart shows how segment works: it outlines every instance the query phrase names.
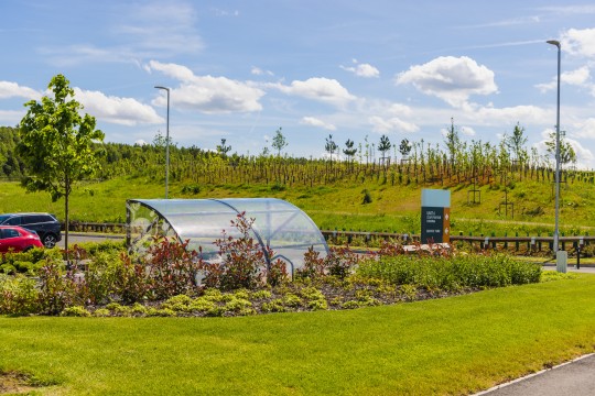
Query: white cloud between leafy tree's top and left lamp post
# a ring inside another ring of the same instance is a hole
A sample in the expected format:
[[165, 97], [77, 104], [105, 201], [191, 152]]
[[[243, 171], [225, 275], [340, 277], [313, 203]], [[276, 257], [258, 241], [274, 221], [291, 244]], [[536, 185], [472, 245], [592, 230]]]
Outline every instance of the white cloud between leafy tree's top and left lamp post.
[[74, 88], [76, 99], [85, 106], [85, 112], [96, 117], [99, 121], [122, 125], [137, 125], [140, 123], [161, 123], [163, 118], [149, 105], [137, 99], [106, 96], [99, 91], [88, 91]]

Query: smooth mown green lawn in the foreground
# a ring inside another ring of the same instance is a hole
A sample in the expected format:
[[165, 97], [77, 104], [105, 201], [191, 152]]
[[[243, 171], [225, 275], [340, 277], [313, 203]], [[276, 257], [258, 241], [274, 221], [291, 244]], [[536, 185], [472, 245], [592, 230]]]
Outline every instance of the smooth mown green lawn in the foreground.
[[595, 276], [344, 311], [0, 318], [0, 371], [66, 395], [469, 394], [595, 350]]

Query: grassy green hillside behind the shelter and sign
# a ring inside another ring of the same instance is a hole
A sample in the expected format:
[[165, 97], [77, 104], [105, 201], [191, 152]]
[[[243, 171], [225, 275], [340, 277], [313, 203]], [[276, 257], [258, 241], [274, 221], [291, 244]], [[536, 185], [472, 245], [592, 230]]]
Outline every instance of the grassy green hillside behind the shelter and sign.
[[[318, 186], [280, 184], [197, 185], [174, 182], [170, 198], [275, 197], [303, 209], [322, 229], [361, 231], [420, 231], [422, 188], [441, 185], [391, 185], [367, 179], [364, 183], [339, 180]], [[554, 191], [548, 180], [518, 180], [508, 184], [505, 207], [504, 186], [459, 184], [452, 191], [453, 232], [478, 235], [496, 233], [547, 235], [553, 231]], [[472, 189], [477, 191], [473, 193]], [[364, 204], [365, 195], [371, 198]], [[164, 184], [148, 177], [116, 177], [100, 183], [78, 185], [72, 195], [71, 219], [94, 222], [123, 222], [129, 198], [162, 198]], [[474, 197], [475, 196], [475, 197]], [[561, 186], [560, 228], [566, 234], [595, 232], [595, 185], [569, 180]], [[475, 202], [474, 202], [475, 199]], [[513, 210], [513, 217], [512, 217]], [[52, 202], [46, 193], [28, 194], [14, 182], [0, 183], [0, 212], [50, 211], [64, 218], [64, 201]]]

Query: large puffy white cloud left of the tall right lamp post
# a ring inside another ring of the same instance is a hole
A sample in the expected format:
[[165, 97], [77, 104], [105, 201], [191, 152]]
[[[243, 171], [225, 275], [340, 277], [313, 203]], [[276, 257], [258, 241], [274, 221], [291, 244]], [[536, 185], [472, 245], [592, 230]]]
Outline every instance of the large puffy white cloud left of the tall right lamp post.
[[435, 96], [448, 105], [461, 108], [472, 95], [497, 92], [494, 72], [462, 56], [441, 56], [426, 64], [411, 66], [400, 73], [396, 82], [412, 84], [425, 95]]

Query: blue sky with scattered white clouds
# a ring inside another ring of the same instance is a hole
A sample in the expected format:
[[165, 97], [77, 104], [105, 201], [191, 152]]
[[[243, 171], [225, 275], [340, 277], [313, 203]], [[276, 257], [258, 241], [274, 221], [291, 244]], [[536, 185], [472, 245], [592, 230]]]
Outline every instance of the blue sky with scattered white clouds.
[[519, 124], [547, 155], [548, 40], [560, 130], [595, 168], [592, 1], [1, 0], [0, 125], [63, 74], [106, 142], [165, 135], [163, 86], [178, 146], [259, 154], [281, 128], [293, 156], [324, 156], [329, 135], [445, 150], [453, 122], [493, 144]]

